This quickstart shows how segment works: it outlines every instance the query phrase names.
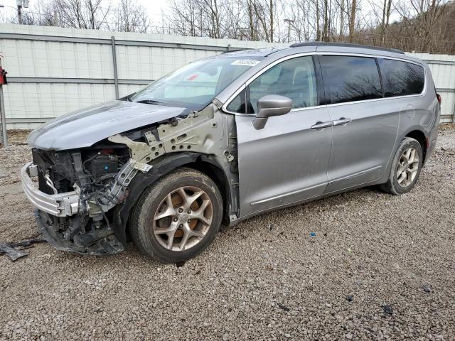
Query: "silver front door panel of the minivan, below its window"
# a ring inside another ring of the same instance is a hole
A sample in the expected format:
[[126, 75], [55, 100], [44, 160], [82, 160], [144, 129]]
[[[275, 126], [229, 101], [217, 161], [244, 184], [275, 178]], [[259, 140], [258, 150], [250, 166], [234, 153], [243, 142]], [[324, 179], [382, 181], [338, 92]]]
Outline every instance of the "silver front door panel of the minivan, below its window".
[[332, 129], [316, 131], [311, 126], [316, 121], [330, 121], [328, 109], [317, 107], [271, 117], [261, 130], [253, 127], [253, 119], [236, 117], [240, 214], [323, 194]]

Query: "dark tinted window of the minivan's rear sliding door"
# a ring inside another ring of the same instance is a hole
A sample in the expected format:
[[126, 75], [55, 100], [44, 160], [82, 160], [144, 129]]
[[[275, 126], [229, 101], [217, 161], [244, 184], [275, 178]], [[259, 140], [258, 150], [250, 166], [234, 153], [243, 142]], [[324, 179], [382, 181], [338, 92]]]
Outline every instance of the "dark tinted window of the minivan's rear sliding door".
[[323, 55], [321, 67], [331, 104], [382, 97], [375, 58]]

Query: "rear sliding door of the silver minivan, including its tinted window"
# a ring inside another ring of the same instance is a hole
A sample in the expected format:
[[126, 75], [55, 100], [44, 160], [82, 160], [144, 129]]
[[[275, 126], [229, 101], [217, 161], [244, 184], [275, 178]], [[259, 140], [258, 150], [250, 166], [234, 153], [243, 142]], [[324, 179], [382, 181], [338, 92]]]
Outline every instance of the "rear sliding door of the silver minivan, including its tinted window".
[[383, 99], [375, 58], [320, 55], [333, 147], [326, 193], [378, 180], [395, 145], [400, 107]]

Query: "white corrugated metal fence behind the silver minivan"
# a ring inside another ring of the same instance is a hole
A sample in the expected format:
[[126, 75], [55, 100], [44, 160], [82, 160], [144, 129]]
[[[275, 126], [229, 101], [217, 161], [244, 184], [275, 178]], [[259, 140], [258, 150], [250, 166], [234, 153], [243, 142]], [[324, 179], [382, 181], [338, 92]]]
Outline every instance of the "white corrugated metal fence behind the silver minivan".
[[[0, 24], [0, 53], [9, 72], [9, 85], [4, 87], [8, 128], [34, 128], [114, 99], [116, 83], [122, 97], [192, 60], [232, 48], [277, 45], [281, 44]], [[412, 55], [429, 63], [443, 97], [443, 121], [452, 121], [455, 56]]]

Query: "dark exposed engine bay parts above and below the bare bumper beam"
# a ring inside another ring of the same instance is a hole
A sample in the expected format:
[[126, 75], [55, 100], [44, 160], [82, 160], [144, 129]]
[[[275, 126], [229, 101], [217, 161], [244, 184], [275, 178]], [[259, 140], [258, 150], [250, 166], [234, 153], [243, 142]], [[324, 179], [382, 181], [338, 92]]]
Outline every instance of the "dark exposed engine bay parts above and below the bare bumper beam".
[[[109, 193], [119, 170], [129, 159], [127, 148], [102, 148], [90, 151], [41, 151], [33, 149], [38, 166], [39, 189], [50, 195], [75, 190], [79, 195], [78, 212], [70, 217], [55, 217], [39, 212], [41, 224], [73, 251], [112, 253], [123, 247], [114, 237], [103, 207], [117, 205], [123, 197]], [[125, 193], [123, 193], [125, 194]], [[46, 236], [48, 237], [48, 236]], [[59, 238], [60, 237], [60, 238]]]

